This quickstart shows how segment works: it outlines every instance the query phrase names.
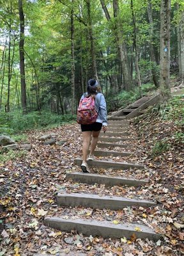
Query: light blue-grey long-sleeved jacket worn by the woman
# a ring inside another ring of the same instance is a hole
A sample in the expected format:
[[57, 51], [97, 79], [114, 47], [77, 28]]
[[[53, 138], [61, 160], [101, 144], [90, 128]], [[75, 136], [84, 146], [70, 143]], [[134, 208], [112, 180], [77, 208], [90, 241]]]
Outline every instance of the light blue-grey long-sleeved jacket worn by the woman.
[[[84, 99], [84, 97], [86, 97], [87, 95], [88, 93], [84, 93], [81, 99]], [[96, 108], [96, 111], [98, 112], [96, 122], [107, 126], [107, 107], [106, 107], [105, 97], [102, 93], [97, 93], [95, 95], [95, 108]]]

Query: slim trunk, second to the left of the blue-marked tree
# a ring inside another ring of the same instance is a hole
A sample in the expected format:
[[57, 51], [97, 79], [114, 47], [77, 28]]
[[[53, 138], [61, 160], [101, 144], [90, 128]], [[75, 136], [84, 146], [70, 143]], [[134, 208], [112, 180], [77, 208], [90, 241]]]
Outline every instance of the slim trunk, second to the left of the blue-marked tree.
[[140, 70], [139, 70], [139, 51], [138, 51], [138, 47], [137, 47], [137, 28], [136, 28], [133, 0], [131, 0], [131, 10], [132, 10], [132, 21], [133, 21], [133, 26], [134, 26], [133, 45], [134, 45], [134, 50], [135, 50], [135, 70], [136, 70], [136, 76], [137, 76], [137, 81], [138, 81], [138, 86], [139, 86], [139, 93], [140, 93], [140, 96], [142, 97], [141, 75], [140, 75]]

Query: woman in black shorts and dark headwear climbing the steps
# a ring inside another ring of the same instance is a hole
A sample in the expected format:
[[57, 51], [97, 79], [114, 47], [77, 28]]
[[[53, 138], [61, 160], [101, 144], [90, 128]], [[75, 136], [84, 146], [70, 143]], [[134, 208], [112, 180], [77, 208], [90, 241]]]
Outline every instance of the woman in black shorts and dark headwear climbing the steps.
[[[93, 95], [95, 97], [95, 108], [98, 113], [96, 122], [93, 124], [81, 124], [82, 131], [82, 164], [81, 169], [82, 172], [89, 173], [88, 164], [86, 163], [87, 157], [88, 160], [94, 160], [93, 153], [96, 148], [96, 144], [98, 142], [98, 136], [100, 134], [100, 130], [103, 129], [105, 132], [107, 130], [107, 108], [104, 95], [100, 93], [100, 86], [98, 86], [98, 82], [95, 79], [89, 79], [87, 93], [82, 95], [81, 99], [86, 96]], [[89, 145], [90, 153], [88, 156]]]

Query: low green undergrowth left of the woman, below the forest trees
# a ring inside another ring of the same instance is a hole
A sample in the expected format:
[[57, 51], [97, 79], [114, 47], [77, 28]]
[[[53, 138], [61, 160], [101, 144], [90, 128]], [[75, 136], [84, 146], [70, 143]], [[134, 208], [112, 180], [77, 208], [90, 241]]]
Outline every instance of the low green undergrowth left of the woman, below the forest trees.
[[[0, 132], [3, 134], [15, 134], [20, 131], [47, 127], [48, 125], [61, 125], [76, 120], [72, 115], [57, 115], [50, 112], [32, 112], [22, 115], [20, 112], [1, 113]], [[20, 137], [18, 138], [20, 140]]]

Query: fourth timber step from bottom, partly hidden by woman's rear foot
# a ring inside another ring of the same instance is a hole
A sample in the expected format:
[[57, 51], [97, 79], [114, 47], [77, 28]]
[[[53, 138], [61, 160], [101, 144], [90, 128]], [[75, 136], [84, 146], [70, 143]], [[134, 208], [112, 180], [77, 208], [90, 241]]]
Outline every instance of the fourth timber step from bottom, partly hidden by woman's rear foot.
[[[88, 163], [88, 166], [101, 167], [101, 168], [106, 168], [106, 169], [113, 168], [113, 170], [127, 170], [130, 168], [144, 169], [144, 165], [142, 165], [142, 164], [129, 164], [129, 163], [123, 163], [123, 162], [93, 160], [93, 161], [87, 161], [87, 163]], [[81, 166], [82, 159], [76, 158], [74, 160], [74, 164]]]

